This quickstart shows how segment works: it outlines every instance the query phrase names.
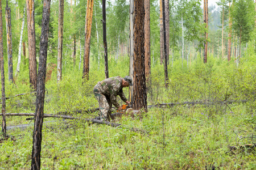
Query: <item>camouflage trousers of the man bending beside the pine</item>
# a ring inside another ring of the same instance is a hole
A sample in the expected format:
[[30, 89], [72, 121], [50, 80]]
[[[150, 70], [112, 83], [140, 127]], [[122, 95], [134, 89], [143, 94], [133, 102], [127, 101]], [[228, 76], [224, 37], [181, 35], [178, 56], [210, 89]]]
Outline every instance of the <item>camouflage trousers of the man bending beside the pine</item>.
[[111, 108], [112, 108], [112, 103], [110, 101], [110, 97], [101, 94], [100, 89], [98, 88], [97, 84], [93, 88], [93, 93], [94, 93], [96, 99], [98, 100], [98, 106], [100, 109], [101, 120], [110, 121]]

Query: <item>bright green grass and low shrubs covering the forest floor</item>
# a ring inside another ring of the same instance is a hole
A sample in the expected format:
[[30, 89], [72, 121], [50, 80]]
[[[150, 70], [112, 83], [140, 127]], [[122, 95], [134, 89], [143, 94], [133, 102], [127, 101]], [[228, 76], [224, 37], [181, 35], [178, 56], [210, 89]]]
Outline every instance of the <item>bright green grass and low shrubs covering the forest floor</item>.
[[[189, 69], [185, 61], [183, 68], [181, 60], [175, 61], [168, 68], [167, 89], [163, 65], [156, 63], [151, 70], [151, 84], [147, 84], [148, 105], [172, 106], [151, 107], [147, 113], [116, 118], [113, 122], [122, 124], [117, 128], [44, 118], [41, 168], [254, 169], [255, 57], [251, 54], [242, 58], [239, 66], [213, 57], [204, 65], [198, 58]], [[110, 61], [110, 76], [127, 75], [129, 65], [125, 63], [127, 57], [118, 63]], [[79, 118], [98, 116], [98, 112], [74, 111], [98, 107], [92, 89], [104, 79], [104, 66], [90, 68], [90, 78], [84, 83], [78, 66], [64, 67], [59, 84], [55, 72], [46, 83], [44, 113], [68, 111]], [[6, 97], [10, 97], [6, 100], [7, 113], [34, 113], [34, 94], [11, 97], [30, 92], [27, 75], [26, 71], [20, 74], [16, 85], [6, 82]], [[128, 97], [128, 88], [124, 92]], [[34, 120], [26, 118], [6, 118], [7, 126], [31, 126], [7, 131], [15, 141], [10, 138], [0, 143], [0, 169], [30, 169]]]

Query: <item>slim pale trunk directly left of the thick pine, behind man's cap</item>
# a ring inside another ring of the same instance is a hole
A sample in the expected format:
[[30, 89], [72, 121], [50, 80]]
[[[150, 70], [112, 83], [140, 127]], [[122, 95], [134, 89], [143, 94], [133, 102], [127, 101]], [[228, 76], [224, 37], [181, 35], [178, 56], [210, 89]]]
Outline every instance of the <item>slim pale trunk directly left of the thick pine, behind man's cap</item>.
[[[133, 78], [134, 75], [134, 0], [130, 0], [130, 11], [129, 11], [129, 26], [130, 26], [130, 37], [129, 37], [129, 54], [130, 54], [130, 65], [129, 65], [129, 76]], [[133, 101], [133, 86], [129, 86], [129, 101]]]

